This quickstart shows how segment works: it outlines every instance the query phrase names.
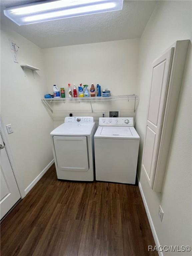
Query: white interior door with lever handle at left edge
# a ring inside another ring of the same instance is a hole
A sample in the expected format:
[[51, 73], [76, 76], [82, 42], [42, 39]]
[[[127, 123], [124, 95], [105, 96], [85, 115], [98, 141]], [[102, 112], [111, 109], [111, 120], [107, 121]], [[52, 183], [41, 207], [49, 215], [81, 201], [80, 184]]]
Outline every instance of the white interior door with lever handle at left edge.
[[13, 205], [21, 198], [7, 152], [1, 137], [1, 191], [0, 191], [0, 217], [3, 216], [13, 207]]

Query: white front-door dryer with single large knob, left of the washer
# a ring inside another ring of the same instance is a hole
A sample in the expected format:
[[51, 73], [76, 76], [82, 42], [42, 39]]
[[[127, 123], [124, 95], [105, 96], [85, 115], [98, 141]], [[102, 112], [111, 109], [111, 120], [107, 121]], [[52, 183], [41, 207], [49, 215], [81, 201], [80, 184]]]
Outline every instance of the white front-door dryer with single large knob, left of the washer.
[[51, 132], [57, 178], [74, 181], [94, 180], [93, 117], [66, 117]]

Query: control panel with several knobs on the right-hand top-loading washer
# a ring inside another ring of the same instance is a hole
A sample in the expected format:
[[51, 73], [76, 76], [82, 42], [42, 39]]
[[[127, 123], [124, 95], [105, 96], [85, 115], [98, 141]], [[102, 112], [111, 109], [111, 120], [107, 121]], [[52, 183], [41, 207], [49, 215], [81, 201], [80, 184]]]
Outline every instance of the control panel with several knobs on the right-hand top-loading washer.
[[99, 126], [134, 126], [133, 117], [100, 117]]

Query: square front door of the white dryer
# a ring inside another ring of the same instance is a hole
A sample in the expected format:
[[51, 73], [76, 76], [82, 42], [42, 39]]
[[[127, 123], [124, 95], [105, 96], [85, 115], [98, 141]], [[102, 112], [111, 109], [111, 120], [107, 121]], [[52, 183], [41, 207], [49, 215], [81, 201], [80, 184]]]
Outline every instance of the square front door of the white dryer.
[[54, 136], [53, 141], [60, 171], [87, 172], [89, 170], [85, 136]]

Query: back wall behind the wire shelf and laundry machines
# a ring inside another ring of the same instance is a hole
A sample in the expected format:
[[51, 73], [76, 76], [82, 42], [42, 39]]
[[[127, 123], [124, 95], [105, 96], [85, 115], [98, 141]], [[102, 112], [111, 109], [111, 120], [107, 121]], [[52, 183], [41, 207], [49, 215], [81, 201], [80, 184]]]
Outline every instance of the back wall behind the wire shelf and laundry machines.
[[[78, 85], [97, 83], [101, 89], [108, 88], [111, 95], [137, 94], [137, 65], [139, 39], [128, 39], [104, 43], [93, 43], [43, 49], [45, 74], [49, 93], [53, 94], [53, 85], [65, 88], [68, 97], [68, 83]], [[55, 126], [62, 123], [64, 117], [91, 115], [98, 120], [109, 110], [120, 110], [121, 116], [134, 116], [134, 102], [112, 101], [90, 103], [66, 103], [54, 108]]]

